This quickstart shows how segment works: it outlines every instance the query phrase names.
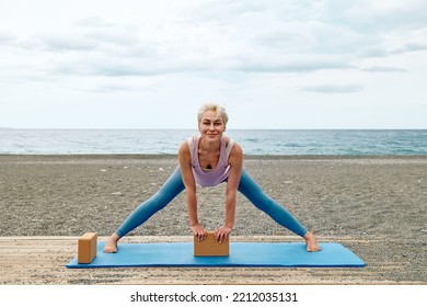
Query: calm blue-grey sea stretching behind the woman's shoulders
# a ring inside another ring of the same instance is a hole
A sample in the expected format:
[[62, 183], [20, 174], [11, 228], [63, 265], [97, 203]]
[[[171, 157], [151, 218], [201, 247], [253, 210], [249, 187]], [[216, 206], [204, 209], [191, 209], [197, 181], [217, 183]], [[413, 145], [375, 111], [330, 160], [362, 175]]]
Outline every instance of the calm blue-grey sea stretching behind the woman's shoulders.
[[[0, 155], [176, 155], [192, 129], [0, 128]], [[230, 129], [245, 155], [423, 156], [427, 129]]]

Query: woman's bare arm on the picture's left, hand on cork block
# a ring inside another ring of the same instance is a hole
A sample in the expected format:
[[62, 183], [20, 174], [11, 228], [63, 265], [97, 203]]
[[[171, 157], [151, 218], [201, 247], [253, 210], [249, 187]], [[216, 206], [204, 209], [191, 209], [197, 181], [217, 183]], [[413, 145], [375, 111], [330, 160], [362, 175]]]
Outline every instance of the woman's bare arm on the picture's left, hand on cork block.
[[197, 240], [206, 239], [207, 231], [199, 225], [197, 217], [197, 194], [196, 194], [196, 181], [194, 180], [192, 172], [192, 156], [186, 141], [180, 146], [178, 162], [181, 175], [183, 178], [185, 186], [185, 197], [188, 209], [189, 226]]

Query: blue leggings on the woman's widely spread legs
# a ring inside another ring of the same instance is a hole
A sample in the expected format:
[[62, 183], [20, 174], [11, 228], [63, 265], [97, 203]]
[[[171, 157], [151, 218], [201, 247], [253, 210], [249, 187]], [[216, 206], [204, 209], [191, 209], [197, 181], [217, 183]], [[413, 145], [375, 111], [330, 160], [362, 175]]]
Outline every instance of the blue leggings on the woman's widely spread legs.
[[[164, 208], [181, 192], [185, 190], [180, 168], [177, 168], [158, 193], [140, 204], [117, 229], [118, 237], [124, 237], [149, 219], [154, 213]], [[266, 195], [255, 181], [243, 169], [239, 183], [239, 192], [251, 201], [258, 209], [268, 214], [279, 225], [298, 236], [304, 236], [307, 229], [281, 205]]]

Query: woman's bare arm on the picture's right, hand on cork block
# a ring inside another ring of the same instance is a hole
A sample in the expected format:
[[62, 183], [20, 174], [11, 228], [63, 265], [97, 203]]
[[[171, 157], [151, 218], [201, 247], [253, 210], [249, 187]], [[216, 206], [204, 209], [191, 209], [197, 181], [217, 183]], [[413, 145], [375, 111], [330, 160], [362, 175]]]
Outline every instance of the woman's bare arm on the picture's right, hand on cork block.
[[226, 191], [226, 221], [215, 234], [216, 240], [219, 242], [228, 240], [229, 235], [234, 227], [235, 202], [243, 167], [243, 150], [238, 144], [234, 144], [233, 149], [230, 152], [229, 164], [230, 174]]

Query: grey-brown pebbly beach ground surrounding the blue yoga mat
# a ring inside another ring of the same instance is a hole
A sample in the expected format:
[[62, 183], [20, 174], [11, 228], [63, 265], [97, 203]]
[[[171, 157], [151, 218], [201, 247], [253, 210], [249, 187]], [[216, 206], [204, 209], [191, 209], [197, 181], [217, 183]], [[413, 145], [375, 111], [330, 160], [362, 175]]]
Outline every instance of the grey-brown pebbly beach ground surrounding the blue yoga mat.
[[[353, 250], [367, 262], [363, 269], [62, 268], [74, 255], [77, 237], [96, 231], [105, 239], [176, 164], [174, 156], [0, 156], [0, 270], [8, 271], [0, 284], [427, 284], [427, 157], [245, 157], [246, 170], [267, 194], [321, 242]], [[223, 221], [224, 187], [198, 191], [199, 219], [209, 229]], [[232, 236], [300, 240], [242, 195]], [[124, 239], [183, 238], [191, 239], [184, 194]], [[36, 249], [61, 280], [44, 274], [43, 265], [25, 272], [30, 265], [13, 262], [20, 239], [50, 247], [61, 241], [61, 249], [48, 253]]]

